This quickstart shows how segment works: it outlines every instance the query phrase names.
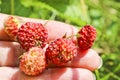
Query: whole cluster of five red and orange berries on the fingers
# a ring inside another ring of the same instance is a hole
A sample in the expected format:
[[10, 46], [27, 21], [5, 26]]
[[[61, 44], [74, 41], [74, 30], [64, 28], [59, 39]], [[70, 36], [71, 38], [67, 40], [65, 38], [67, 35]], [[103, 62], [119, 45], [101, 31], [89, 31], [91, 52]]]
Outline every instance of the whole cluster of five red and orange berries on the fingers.
[[97, 34], [93, 26], [85, 25], [78, 32], [77, 43], [73, 42], [72, 37], [66, 38], [65, 35], [49, 42], [48, 30], [41, 23], [26, 22], [20, 26], [16, 17], [9, 16], [4, 25], [5, 32], [19, 42], [25, 51], [20, 56], [19, 68], [27, 75], [42, 73], [49, 63], [65, 65], [77, 56], [78, 48], [91, 48]]

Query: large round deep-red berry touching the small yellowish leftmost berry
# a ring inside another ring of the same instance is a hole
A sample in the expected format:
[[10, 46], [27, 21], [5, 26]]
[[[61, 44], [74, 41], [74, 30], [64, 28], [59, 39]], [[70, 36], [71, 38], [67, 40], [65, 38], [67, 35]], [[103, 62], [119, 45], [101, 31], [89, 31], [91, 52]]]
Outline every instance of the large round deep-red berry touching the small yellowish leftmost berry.
[[41, 23], [26, 22], [20, 27], [17, 36], [25, 50], [34, 46], [43, 48], [47, 43], [48, 31]]

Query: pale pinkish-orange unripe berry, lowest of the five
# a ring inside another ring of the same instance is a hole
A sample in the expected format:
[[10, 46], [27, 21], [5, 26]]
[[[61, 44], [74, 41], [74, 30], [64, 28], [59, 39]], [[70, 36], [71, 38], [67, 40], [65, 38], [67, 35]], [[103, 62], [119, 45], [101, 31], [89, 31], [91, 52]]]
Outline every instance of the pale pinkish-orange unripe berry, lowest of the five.
[[19, 68], [27, 75], [38, 75], [45, 70], [45, 67], [45, 53], [41, 48], [30, 48], [21, 56]]

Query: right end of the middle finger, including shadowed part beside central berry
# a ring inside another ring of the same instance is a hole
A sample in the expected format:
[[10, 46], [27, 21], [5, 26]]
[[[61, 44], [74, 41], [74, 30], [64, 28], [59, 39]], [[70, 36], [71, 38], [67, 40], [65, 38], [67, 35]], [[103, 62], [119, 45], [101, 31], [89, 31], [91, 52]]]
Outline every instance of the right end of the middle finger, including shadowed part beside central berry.
[[96, 70], [102, 66], [102, 59], [96, 51], [89, 49], [86, 51], [79, 51], [78, 55], [72, 60], [72, 62], [66, 64], [66, 66], [86, 68], [89, 70]]

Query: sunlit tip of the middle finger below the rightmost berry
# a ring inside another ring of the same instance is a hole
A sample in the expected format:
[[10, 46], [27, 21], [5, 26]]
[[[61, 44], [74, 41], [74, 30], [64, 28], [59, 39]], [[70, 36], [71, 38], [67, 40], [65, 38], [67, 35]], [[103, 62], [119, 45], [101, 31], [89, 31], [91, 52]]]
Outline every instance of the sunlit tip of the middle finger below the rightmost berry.
[[93, 49], [89, 49], [85, 53], [85, 55], [84, 53], [81, 53], [81, 55], [79, 54], [80, 64], [82, 65], [82, 67], [87, 68], [91, 71], [98, 69], [98, 67], [101, 65], [101, 58], [98, 53]]

